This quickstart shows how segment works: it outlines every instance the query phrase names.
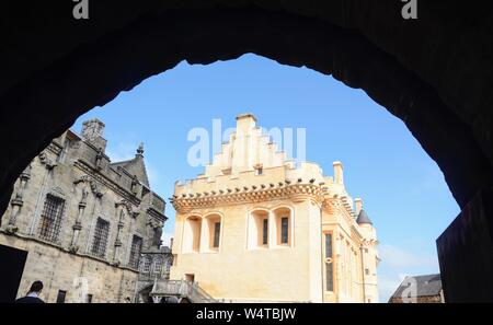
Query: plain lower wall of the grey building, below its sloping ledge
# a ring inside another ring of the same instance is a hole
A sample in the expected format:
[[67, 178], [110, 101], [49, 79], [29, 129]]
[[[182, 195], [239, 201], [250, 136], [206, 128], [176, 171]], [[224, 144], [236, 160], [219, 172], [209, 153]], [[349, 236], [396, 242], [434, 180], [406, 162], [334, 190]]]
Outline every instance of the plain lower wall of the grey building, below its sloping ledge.
[[130, 302], [135, 297], [136, 270], [4, 233], [0, 233], [0, 244], [28, 252], [18, 298], [25, 295], [36, 280], [44, 283], [41, 298], [46, 302], [56, 302], [59, 290], [67, 291], [66, 302], [85, 302], [81, 300], [85, 299], [81, 294], [84, 281], [94, 303]]

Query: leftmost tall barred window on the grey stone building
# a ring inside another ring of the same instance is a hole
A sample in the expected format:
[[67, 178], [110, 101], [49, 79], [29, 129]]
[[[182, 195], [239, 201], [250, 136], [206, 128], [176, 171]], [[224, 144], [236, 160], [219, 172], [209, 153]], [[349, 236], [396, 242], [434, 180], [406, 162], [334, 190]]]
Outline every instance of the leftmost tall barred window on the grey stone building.
[[60, 234], [61, 218], [65, 200], [48, 194], [41, 216], [39, 237], [49, 242], [57, 242]]

